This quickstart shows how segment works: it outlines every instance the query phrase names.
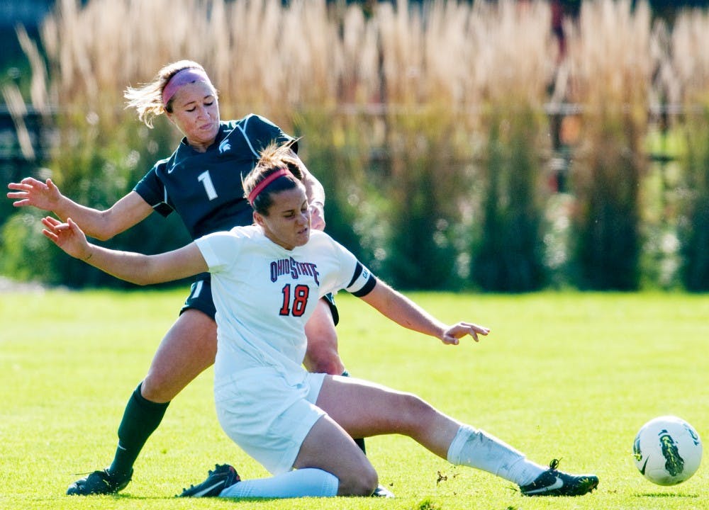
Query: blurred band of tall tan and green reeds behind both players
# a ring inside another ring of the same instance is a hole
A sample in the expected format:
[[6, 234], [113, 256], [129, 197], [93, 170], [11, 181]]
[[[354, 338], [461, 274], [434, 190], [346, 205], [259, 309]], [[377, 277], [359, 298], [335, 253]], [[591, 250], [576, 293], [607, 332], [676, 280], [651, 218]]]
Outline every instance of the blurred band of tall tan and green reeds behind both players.
[[[328, 232], [399, 288], [705, 292], [706, 4], [57, 0], [8, 38], [0, 176], [108, 208], [179, 141], [125, 87], [187, 58], [223, 119], [303, 137]], [[0, 203], [0, 274], [127, 285], [58, 253], [41, 215]], [[152, 215], [106, 245], [187, 241]]]

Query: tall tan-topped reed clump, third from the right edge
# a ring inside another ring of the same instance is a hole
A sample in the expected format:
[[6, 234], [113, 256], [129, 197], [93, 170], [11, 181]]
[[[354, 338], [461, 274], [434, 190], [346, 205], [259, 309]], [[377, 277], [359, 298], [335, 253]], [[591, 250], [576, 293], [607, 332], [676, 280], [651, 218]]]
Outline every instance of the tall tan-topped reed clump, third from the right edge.
[[[556, 47], [542, 2], [476, 4], [474, 100], [486, 135], [474, 182], [481, 219], [471, 244], [471, 276], [485, 290], [529, 291], [545, 284], [543, 217], [549, 189], [543, 115]], [[471, 96], [473, 96], [471, 94]]]

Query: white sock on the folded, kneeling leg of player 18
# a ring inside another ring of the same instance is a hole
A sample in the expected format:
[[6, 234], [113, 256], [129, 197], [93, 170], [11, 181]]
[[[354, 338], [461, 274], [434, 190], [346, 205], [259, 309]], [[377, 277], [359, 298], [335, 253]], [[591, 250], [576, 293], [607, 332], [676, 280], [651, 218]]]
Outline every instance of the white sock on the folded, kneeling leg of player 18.
[[219, 497], [333, 497], [339, 486], [335, 475], [308, 467], [270, 478], [242, 480], [224, 489]]

